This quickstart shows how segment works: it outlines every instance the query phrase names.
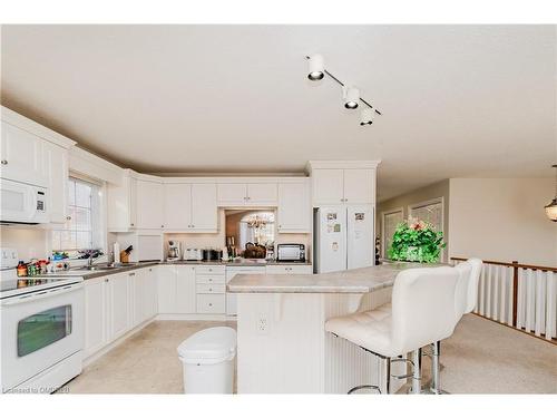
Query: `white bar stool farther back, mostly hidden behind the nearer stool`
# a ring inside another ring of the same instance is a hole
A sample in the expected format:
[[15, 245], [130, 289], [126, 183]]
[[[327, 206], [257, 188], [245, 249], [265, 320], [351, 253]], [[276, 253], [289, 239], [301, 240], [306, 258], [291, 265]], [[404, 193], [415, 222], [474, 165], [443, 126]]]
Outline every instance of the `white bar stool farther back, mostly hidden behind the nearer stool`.
[[[470, 259], [456, 266], [459, 280], [455, 292], [455, 327], [466, 313], [470, 313], [476, 308], [481, 265], [480, 259]], [[432, 343], [431, 351], [431, 386], [429, 390], [434, 395], [447, 393], [441, 389], [440, 381], [441, 341]]]

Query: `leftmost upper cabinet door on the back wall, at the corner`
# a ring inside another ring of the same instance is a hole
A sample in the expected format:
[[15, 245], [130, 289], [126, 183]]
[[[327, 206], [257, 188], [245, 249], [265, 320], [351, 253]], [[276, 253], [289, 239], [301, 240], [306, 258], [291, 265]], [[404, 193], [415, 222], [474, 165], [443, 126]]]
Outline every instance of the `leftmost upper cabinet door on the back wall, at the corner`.
[[160, 230], [163, 224], [163, 184], [146, 179], [136, 182], [137, 229]]

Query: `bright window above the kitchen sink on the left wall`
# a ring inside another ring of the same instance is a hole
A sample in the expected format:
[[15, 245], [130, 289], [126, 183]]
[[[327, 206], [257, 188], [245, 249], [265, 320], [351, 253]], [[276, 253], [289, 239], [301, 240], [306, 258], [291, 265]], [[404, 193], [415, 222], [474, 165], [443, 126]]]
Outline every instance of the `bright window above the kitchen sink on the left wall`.
[[94, 183], [68, 179], [68, 218], [52, 231], [53, 251], [100, 247], [100, 187]]

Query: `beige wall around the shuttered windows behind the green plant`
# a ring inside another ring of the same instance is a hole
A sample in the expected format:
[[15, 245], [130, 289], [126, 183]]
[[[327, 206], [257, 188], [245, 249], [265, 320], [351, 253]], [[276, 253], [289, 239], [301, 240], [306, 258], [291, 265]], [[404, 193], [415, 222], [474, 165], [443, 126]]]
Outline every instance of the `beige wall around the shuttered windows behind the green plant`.
[[[444, 241], [449, 240], [449, 179], [443, 179], [441, 182], [437, 182], [430, 184], [429, 186], [418, 188], [413, 192], [390, 198], [384, 202], [380, 202], [378, 205], [378, 216], [377, 216], [377, 234], [381, 236], [382, 233], [382, 221], [383, 212], [389, 212], [392, 210], [397, 210], [399, 207], [403, 208], [404, 218], [409, 216], [409, 206], [420, 203], [431, 201], [433, 198], [443, 197], [444, 207], [443, 207], [443, 234]], [[382, 237], [381, 237], [382, 239]], [[383, 245], [381, 241], [381, 245]], [[448, 250], [444, 251], [444, 260], [447, 260]]]

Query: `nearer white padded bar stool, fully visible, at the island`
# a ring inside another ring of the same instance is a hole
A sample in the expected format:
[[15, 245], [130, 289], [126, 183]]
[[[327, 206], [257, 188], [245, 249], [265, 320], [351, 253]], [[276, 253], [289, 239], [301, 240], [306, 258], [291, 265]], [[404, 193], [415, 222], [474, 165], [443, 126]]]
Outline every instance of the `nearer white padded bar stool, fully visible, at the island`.
[[[421, 348], [448, 338], [455, 329], [455, 268], [409, 269], [394, 281], [392, 302], [378, 309], [330, 319], [325, 330], [385, 360], [385, 392], [390, 392], [391, 358], [413, 352], [414, 388], [420, 388]], [[405, 360], [403, 360], [405, 361]], [[361, 388], [381, 392], [379, 385]], [[419, 391], [418, 391], [419, 392]]]

